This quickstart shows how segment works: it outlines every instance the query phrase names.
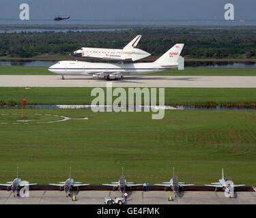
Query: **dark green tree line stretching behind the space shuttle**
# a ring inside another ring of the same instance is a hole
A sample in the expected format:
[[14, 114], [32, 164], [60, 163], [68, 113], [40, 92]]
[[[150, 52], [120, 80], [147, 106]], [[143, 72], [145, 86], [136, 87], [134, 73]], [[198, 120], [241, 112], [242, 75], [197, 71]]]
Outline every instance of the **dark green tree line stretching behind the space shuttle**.
[[66, 33], [54, 31], [0, 33], [1, 57], [69, 55], [81, 47], [123, 48], [136, 35], [142, 35], [137, 48], [162, 55], [176, 43], [184, 43], [182, 55], [188, 58], [256, 57], [256, 28], [253, 27], [162, 27], [132, 28], [129, 31]]

